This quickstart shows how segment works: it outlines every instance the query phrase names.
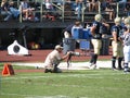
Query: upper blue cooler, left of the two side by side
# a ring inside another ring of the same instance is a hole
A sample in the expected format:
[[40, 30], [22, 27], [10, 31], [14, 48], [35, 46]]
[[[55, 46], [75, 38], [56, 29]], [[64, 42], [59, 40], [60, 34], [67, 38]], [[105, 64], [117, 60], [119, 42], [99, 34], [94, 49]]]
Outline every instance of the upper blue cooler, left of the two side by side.
[[74, 28], [74, 30], [72, 32], [72, 36], [74, 39], [82, 39], [83, 38], [82, 28]]

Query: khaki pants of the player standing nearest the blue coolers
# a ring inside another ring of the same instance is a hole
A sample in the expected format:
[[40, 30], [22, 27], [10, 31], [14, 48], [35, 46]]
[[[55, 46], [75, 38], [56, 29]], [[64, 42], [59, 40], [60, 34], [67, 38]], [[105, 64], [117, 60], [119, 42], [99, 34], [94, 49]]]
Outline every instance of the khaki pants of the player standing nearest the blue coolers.
[[94, 48], [94, 53], [100, 54], [100, 49], [102, 47], [102, 40], [101, 39], [91, 39], [91, 42]]

